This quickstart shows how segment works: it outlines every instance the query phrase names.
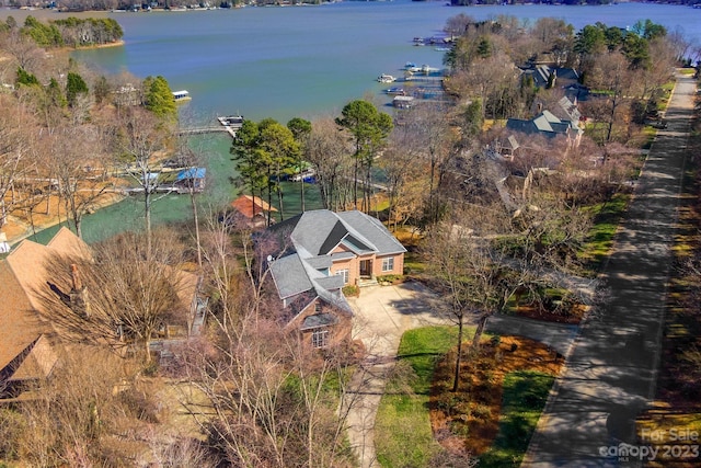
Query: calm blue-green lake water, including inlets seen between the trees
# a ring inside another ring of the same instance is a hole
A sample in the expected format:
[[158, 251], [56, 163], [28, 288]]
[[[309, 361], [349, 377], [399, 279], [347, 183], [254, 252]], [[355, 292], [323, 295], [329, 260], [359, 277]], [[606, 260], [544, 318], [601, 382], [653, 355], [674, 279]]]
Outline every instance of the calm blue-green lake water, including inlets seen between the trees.
[[[243, 8], [232, 10], [111, 13], [125, 32], [120, 47], [81, 50], [73, 57], [105, 73], [128, 71], [138, 79], [163, 76], [171, 89], [193, 98], [182, 107], [185, 122], [212, 124], [217, 115], [240, 113], [260, 121], [286, 123], [338, 115], [352, 100], [370, 96], [387, 103], [380, 73], [401, 76], [406, 61], [441, 67], [443, 53], [414, 46], [415, 36], [441, 33], [446, 21], [464, 13], [476, 20], [512, 15], [533, 22], [558, 18], [579, 30], [598, 21], [632, 26], [651, 19], [669, 32], [681, 31], [701, 43], [701, 9], [681, 5], [620, 3], [607, 7], [495, 5], [447, 7], [444, 2], [411, 0], [340, 2], [318, 7]], [[389, 111], [389, 107], [388, 107]], [[232, 199], [235, 176], [230, 138], [198, 137], [209, 168], [210, 197]], [[310, 186], [308, 186], [310, 187]], [[310, 187], [311, 189], [311, 187]], [[307, 193], [308, 209], [318, 195]], [[286, 210], [299, 210], [297, 189], [289, 187]], [[191, 216], [186, 196], [154, 204], [157, 221]], [[83, 225], [89, 242], [141, 225], [142, 209], [128, 199], [89, 216]], [[41, 235], [45, 241], [55, 229]]]

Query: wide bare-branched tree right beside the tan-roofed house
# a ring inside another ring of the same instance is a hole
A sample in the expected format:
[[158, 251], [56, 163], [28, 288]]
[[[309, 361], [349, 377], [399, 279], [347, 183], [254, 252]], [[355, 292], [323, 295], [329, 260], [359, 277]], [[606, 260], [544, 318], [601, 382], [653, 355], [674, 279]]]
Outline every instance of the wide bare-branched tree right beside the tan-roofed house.
[[115, 349], [136, 343], [149, 363], [156, 332], [188, 320], [186, 295], [196, 285], [182, 265], [175, 233], [154, 230], [149, 246], [145, 233], [125, 232], [92, 255], [50, 259], [50, 283], [36, 293], [67, 340]]

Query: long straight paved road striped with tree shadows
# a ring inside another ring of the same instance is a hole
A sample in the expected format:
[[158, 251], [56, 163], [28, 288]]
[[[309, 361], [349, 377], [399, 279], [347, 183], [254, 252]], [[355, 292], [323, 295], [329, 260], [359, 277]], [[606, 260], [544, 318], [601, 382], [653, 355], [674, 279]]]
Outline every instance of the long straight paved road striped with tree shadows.
[[610, 300], [583, 326], [524, 467], [640, 465], [617, 457], [616, 447], [636, 444], [634, 419], [655, 393], [694, 92], [691, 78], [678, 78], [666, 113], [668, 128], [650, 151], [602, 278]]

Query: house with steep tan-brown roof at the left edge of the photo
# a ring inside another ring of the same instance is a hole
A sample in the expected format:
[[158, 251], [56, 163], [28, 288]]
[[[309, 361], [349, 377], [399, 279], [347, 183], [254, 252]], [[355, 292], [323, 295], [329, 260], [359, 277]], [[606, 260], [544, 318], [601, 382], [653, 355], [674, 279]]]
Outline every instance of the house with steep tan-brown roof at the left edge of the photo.
[[59, 343], [42, 318], [38, 294], [49, 288], [44, 265], [53, 255], [85, 258], [90, 250], [61, 228], [48, 244], [24, 240], [0, 262], [0, 397], [16, 396], [26, 384], [48, 377], [58, 361]]

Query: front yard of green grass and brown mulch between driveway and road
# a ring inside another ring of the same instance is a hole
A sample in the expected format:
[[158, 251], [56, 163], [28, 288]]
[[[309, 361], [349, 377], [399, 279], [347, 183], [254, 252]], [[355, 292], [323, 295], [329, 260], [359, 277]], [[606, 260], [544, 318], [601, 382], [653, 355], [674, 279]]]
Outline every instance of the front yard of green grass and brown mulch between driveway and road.
[[452, 393], [456, 340], [457, 327], [402, 336], [376, 420], [381, 466], [430, 467], [466, 454], [479, 456], [480, 466], [520, 464], [561, 358], [531, 340], [485, 336], [480, 356], [466, 359], [460, 390]]

